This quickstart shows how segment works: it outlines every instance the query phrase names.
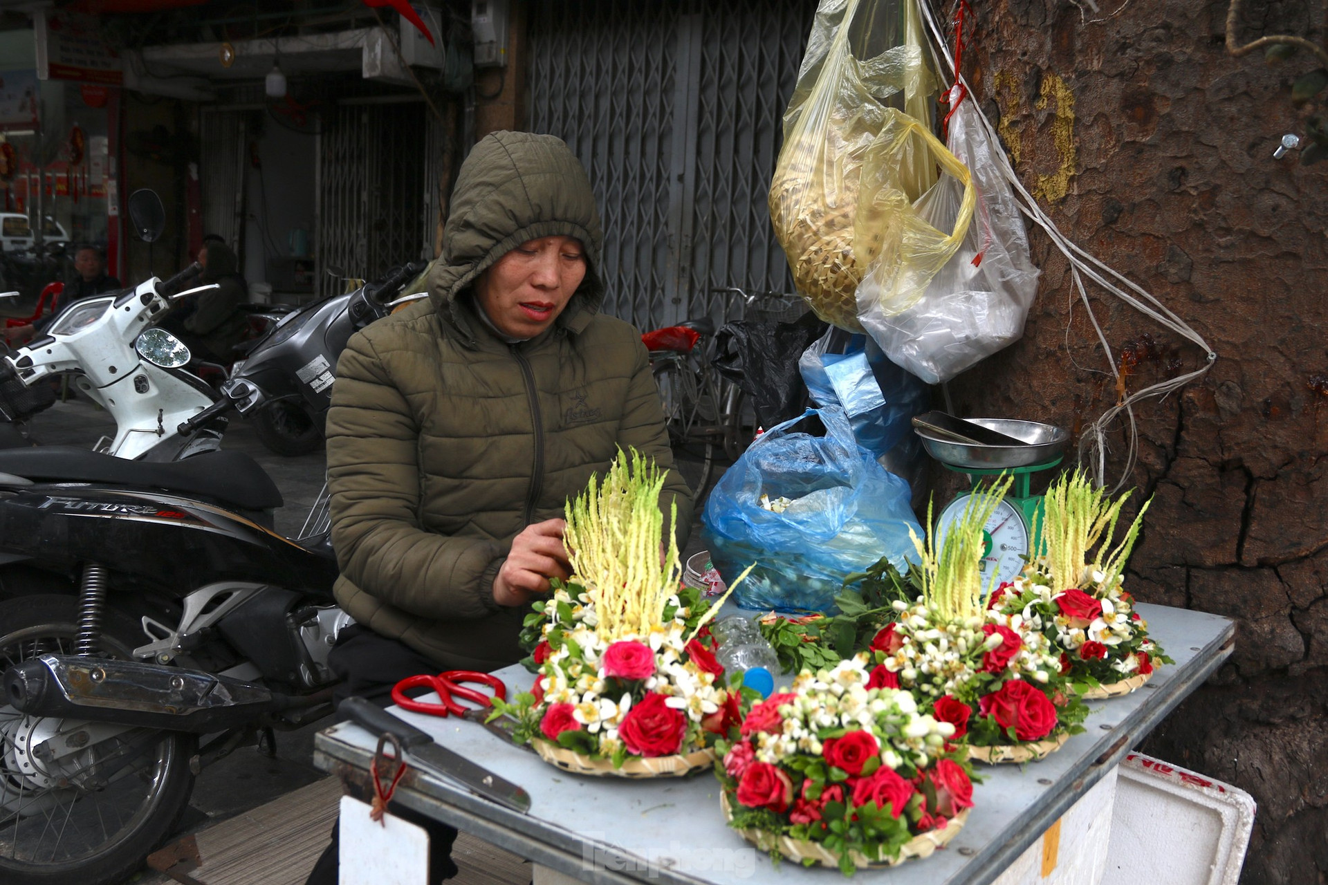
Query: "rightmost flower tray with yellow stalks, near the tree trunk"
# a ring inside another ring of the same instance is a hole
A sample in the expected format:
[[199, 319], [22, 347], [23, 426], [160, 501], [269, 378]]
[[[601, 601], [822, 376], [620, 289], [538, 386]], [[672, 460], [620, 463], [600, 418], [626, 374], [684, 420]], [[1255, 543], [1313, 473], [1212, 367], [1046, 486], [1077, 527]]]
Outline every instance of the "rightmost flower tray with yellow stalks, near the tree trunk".
[[1126, 498], [1112, 502], [1082, 472], [1062, 474], [1046, 490], [1037, 556], [991, 600], [995, 612], [1042, 633], [1074, 690], [1089, 699], [1129, 694], [1154, 667], [1171, 663], [1123, 586], [1147, 503], [1112, 548]]

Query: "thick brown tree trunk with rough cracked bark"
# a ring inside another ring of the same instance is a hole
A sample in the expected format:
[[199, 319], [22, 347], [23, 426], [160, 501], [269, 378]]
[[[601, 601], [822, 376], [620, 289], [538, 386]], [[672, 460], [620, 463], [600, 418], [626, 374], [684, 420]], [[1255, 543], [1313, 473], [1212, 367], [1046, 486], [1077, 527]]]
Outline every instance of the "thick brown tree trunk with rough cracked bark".
[[[1228, 56], [1226, 0], [1105, 0], [1086, 15], [1068, 0], [973, 5], [969, 80], [1025, 184], [1219, 354], [1203, 382], [1139, 410], [1131, 480], [1154, 503], [1129, 582], [1145, 601], [1236, 618], [1238, 644], [1146, 750], [1254, 793], [1243, 882], [1321, 885], [1328, 163], [1272, 159], [1283, 133], [1305, 131], [1291, 81], [1316, 62]], [[1321, 0], [1256, 0], [1242, 17], [1242, 41], [1324, 38]], [[1033, 243], [1044, 277], [1025, 338], [952, 391], [961, 414], [1078, 427], [1114, 401], [1114, 381], [1065, 261], [1045, 236]], [[1131, 389], [1203, 358], [1109, 297], [1093, 309], [1113, 346], [1135, 345]]]

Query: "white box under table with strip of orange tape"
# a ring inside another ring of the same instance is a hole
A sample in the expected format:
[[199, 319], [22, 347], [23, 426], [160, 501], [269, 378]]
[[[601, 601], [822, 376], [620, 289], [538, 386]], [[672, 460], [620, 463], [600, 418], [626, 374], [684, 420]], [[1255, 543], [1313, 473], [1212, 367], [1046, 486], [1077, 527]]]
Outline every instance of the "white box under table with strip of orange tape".
[[1098, 885], [1106, 866], [1114, 800], [1116, 768], [1080, 796], [993, 885]]

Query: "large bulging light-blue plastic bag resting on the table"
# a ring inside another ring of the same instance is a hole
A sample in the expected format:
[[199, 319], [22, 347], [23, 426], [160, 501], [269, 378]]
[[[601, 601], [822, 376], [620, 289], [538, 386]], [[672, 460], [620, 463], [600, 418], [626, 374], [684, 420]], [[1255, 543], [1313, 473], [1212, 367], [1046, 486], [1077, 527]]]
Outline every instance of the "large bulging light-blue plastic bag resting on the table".
[[[922, 527], [908, 483], [887, 472], [853, 437], [842, 409], [819, 415], [825, 437], [772, 427], [720, 478], [701, 515], [710, 561], [725, 581], [748, 565], [733, 592], [744, 608], [825, 612], [843, 579], [888, 556], [899, 569], [915, 559], [908, 529]], [[782, 512], [761, 506], [789, 499]]]

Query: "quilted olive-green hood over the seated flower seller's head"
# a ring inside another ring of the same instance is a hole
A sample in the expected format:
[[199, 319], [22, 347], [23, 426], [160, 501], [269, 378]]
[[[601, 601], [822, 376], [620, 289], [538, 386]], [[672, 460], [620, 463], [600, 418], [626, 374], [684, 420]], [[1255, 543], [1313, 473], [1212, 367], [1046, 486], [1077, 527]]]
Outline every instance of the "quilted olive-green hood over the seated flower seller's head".
[[560, 138], [511, 131], [485, 135], [457, 174], [442, 255], [429, 285], [434, 309], [474, 340], [473, 318], [459, 309], [457, 296], [522, 243], [559, 235], [575, 236], [586, 253], [586, 279], [558, 317], [559, 326], [580, 332], [604, 300], [603, 232], [586, 170]]

